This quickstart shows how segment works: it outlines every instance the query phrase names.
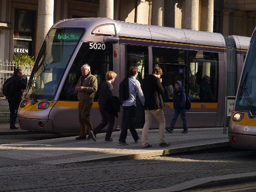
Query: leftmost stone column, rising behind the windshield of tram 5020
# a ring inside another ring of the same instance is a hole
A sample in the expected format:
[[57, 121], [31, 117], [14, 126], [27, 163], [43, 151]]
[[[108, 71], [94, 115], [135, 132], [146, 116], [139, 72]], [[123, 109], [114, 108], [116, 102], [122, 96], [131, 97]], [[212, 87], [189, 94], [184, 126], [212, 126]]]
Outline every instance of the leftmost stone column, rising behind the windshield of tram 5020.
[[53, 25], [54, 0], [38, 0], [36, 56], [44, 42], [45, 36]]

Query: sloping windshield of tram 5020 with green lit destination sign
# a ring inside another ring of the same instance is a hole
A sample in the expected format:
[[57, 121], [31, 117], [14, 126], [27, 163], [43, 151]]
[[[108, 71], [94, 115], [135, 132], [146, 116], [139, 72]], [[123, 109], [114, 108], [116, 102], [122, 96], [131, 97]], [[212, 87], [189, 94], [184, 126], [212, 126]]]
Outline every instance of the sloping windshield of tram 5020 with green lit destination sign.
[[51, 29], [38, 54], [25, 98], [54, 99], [83, 33], [83, 28]]

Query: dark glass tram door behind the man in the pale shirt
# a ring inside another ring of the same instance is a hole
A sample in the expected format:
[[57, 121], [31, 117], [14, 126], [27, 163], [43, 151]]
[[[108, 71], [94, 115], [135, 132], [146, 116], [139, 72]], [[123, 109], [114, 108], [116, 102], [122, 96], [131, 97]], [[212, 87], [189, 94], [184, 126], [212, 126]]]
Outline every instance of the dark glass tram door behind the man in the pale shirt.
[[[130, 66], [136, 66], [138, 68], [137, 80], [142, 86], [144, 77], [148, 75], [148, 47], [127, 45], [125, 48], [125, 64], [126, 77], [128, 77]], [[136, 96], [136, 110], [133, 122], [136, 128], [143, 128], [145, 123], [144, 108], [138, 96]]]

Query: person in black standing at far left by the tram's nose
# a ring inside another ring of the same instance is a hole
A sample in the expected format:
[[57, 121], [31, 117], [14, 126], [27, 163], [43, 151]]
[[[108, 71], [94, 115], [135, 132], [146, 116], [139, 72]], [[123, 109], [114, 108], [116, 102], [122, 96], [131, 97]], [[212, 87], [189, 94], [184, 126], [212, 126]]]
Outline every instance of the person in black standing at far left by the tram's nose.
[[21, 79], [22, 72], [20, 69], [15, 69], [12, 75], [12, 79], [10, 83], [14, 84], [14, 92], [11, 96], [7, 97], [10, 109], [10, 129], [18, 129], [19, 127], [15, 126], [15, 122], [17, 119], [18, 108], [21, 102], [22, 90], [26, 88], [26, 80]]

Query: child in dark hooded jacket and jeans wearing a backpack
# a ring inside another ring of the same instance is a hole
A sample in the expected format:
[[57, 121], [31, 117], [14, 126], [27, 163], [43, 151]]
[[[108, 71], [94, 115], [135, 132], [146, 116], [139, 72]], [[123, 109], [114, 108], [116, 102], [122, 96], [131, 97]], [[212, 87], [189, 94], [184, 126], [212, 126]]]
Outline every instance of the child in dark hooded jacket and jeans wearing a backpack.
[[187, 119], [186, 119], [186, 94], [182, 88], [182, 83], [180, 81], [175, 82], [175, 90], [173, 94], [173, 105], [174, 105], [174, 117], [170, 122], [170, 128], [165, 128], [166, 131], [173, 133], [174, 125], [177, 121], [177, 117], [180, 114], [182, 123], [183, 123], [183, 131], [182, 134], [187, 134]]

